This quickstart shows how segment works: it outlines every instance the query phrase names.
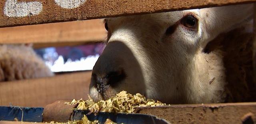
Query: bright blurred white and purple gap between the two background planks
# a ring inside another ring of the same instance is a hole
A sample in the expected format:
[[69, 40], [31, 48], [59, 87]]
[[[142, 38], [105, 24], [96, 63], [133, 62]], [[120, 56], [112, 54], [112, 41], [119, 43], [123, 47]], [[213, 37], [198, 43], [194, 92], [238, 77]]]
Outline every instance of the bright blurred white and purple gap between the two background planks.
[[104, 43], [34, 49], [52, 72], [92, 70]]

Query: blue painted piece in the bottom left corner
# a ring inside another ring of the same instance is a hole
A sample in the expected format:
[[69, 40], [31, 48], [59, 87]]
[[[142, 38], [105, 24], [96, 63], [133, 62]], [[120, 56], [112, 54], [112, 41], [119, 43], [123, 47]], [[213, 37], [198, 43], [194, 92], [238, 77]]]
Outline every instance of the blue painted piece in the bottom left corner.
[[44, 108], [27, 108], [17, 106], [0, 106], [0, 120], [13, 121], [17, 118], [21, 121], [23, 112], [24, 122], [42, 122]]

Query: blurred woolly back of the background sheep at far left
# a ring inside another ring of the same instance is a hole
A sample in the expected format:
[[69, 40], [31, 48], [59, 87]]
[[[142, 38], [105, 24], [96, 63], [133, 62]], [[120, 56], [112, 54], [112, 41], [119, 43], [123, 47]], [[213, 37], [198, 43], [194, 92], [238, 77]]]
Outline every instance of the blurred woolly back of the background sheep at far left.
[[0, 45], [0, 81], [54, 76], [32, 49], [26, 45]]

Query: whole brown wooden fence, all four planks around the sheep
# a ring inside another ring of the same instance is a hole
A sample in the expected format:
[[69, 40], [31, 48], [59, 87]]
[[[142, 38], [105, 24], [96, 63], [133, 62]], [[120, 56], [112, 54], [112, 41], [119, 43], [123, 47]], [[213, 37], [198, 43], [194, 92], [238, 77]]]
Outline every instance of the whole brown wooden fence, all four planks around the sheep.
[[[256, 2], [256, 0], [1, 0], [0, 43], [36, 43], [37, 47], [44, 47], [50, 45], [74, 45], [83, 44], [84, 42], [103, 41], [106, 32], [104, 26], [102, 26], [102, 22], [100, 22], [100, 20], [91, 19], [252, 2]], [[65, 23], [45, 24], [52, 22]], [[32, 26], [32, 24], [42, 25]], [[27, 32], [28, 30], [30, 32]], [[254, 64], [255, 63], [256, 62], [254, 62]], [[83, 86], [88, 88], [88, 82], [90, 81], [87, 80], [82, 83], [84, 76], [87, 76], [86, 79], [90, 79], [90, 72], [74, 73], [71, 75], [64, 74], [52, 78], [22, 80], [6, 82], [3, 84], [0, 83], [0, 105], [7, 105], [8, 102], [12, 102], [10, 97], [12, 97], [12, 99], [20, 100], [20, 103], [14, 102], [14, 105], [29, 105], [27, 103], [22, 104], [22, 100], [26, 98], [26, 94], [22, 93], [24, 89], [19, 91], [19, 94], [12, 94], [13, 90], [19, 90], [19, 88], [25, 87], [28, 91], [31, 91], [31, 93], [36, 92], [33, 99], [38, 100], [40, 100], [40, 98], [47, 100], [47, 98], [50, 97], [57, 97], [56, 95], [58, 94], [69, 94], [72, 90], [76, 90], [76, 93], [70, 94], [72, 97], [86, 98], [84, 95], [86, 95], [88, 91], [83, 92], [80, 91], [82, 89], [79, 88]], [[72, 84], [71, 82], [76, 84]], [[22, 83], [27, 86], [23, 86]], [[30, 85], [31, 83], [32, 85]], [[56, 84], [52, 85], [53, 83]], [[75, 87], [74, 85], [77, 85], [78, 87]], [[56, 90], [55, 93], [50, 94], [52, 90], [58, 89], [60, 86], [65, 89], [63, 92]], [[50, 88], [48, 89], [48, 87]], [[48, 94], [45, 95], [40, 92], [48, 92]], [[39, 96], [36, 96], [38, 94]], [[60, 98], [65, 99], [66, 97], [64, 96]], [[48, 102], [53, 102], [53, 100], [49, 100]], [[36, 103], [38, 103], [36, 106], [44, 106], [38, 101]], [[218, 109], [216, 109], [216, 106]], [[141, 108], [138, 112], [157, 115], [174, 123], [232, 123], [246, 122], [248, 118], [251, 118], [254, 122], [256, 121], [255, 103], [210, 104], [202, 106], [175, 105], [166, 108]]]

